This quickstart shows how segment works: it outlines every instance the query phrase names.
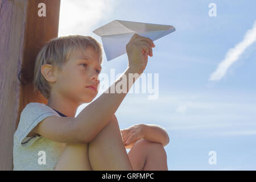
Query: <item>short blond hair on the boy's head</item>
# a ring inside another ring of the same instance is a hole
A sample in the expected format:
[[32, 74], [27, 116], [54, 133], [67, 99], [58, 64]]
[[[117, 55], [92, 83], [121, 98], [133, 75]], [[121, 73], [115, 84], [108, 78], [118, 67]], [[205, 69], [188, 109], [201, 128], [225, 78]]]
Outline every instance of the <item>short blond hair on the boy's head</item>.
[[102, 63], [102, 46], [91, 36], [69, 35], [53, 38], [47, 42], [36, 56], [34, 78], [32, 84], [34, 91], [39, 90], [47, 99], [50, 96], [51, 87], [41, 73], [43, 64], [51, 64], [53, 68], [57, 68], [61, 72], [69, 57], [77, 49], [85, 54], [86, 47], [92, 47], [100, 56], [100, 64]]

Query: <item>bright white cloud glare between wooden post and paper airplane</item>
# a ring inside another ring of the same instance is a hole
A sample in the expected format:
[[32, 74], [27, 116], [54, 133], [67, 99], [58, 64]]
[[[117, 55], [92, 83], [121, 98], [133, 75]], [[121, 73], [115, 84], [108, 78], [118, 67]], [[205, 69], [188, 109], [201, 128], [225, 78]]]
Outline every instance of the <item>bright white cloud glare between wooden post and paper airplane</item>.
[[100, 20], [109, 18], [116, 3], [115, 0], [61, 0], [58, 36], [88, 35]]

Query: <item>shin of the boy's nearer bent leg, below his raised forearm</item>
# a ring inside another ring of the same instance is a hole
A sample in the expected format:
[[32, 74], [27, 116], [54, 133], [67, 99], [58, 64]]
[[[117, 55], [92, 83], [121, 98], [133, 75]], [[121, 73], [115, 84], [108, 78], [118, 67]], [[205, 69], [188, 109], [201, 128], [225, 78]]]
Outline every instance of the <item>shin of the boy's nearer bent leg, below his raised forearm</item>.
[[89, 161], [94, 171], [132, 171], [115, 115], [89, 143]]

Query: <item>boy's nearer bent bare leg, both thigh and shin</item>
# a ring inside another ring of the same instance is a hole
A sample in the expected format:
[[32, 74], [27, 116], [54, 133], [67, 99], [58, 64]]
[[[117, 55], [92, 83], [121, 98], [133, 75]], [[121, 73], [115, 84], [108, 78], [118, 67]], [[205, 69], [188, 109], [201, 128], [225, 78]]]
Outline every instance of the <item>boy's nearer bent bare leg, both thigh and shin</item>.
[[[94, 168], [89, 160], [89, 144], [90, 160]], [[55, 170], [133, 170], [123, 144], [117, 118], [113, 116], [92, 142], [68, 143]]]

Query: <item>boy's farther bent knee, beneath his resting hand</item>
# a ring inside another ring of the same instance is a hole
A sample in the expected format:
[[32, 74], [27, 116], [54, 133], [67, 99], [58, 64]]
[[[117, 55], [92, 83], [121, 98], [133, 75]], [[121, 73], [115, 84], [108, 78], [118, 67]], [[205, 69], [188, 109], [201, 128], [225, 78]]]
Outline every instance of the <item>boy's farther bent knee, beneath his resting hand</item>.
[[131, 147], [128, 156], [134, 170], [168, 171], [166, 151], [160, 143], [138, 140]]

